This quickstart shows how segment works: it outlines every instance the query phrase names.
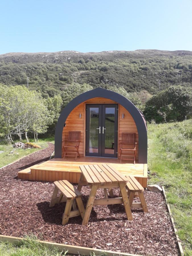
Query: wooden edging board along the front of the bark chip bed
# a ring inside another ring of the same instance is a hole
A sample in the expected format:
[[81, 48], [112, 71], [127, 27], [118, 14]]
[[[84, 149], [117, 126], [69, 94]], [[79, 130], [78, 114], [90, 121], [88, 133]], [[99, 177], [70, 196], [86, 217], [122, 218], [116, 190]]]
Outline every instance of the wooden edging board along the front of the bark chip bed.
[[[22, 241], [24, 238], [14, 237], [14, 236], [3, 236], [0, 235], [0, 241], [5, 242], [9, 241], [11, 243], [17, 243], [18, 241]], [[76, 254], [76, 255], [90, 255], [91, 252], [94, 252], [95, 255], [101, 255], [101, 253], [107, 253], [108, 256], [142, 256], [142, 255], [136, 255], [136, 254], [129, 254], [129, 253], [121, 253], [116, 251], [107, 251], [107, 250], [100, 250], [100, 249], [94, 249], [94, 248], [88, 248], [88, 247], [82, 247], [82, 246], [75, 246], [75, 245], [68, 245], [68, 244], [62, 244], [62, 243], [53, 243], [53, 242], [46, 242], [46, 241], [40, 241], [38, 242], [41, 245], [45, 245], [48, 248], [56, 247], [59, 249], [59, 251], [65, 251], [68, 250], [68, 253]]]

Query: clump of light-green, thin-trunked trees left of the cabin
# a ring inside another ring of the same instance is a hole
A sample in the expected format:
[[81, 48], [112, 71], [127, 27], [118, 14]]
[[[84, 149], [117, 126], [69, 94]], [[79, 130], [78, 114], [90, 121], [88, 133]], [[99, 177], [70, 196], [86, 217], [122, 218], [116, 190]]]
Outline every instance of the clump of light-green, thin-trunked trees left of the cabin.
[[[52, 100], [55, 109], [49, 111], [47, 101], [36, 91], [29, 91], [25, 86], [0, 85], [0, 135], [13, 142], [11, 135], [17, 134], [22, 141], [22, 133], [28, 142], [28, 131], [34, 133], [35, 140], [38, 133], [46, 132], [48, 125], [53, 123], [56, 112], [61, 105], [57, 97]], [[51, 102], [51, 100], [49, 100]]]

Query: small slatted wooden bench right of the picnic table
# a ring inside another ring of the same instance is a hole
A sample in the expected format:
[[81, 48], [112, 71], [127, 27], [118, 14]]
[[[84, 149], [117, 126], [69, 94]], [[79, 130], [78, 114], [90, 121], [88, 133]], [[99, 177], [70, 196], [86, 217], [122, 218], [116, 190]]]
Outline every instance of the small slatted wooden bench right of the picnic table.
[[[141, 184], [133, 177], [132, 175], [126, 176], [128, 178], [128, 182], [126, 187], [128, 188], [128, 196], [129, 196], [129, 204], [132, 208], [143, 208], [144, 212], [148, 212], [147, 204], [144, 198], [144, 188]], [[133, 199], [135, 197], [135, 193], [138, 193], [139, 199], [141, 203], [133, 203]]]

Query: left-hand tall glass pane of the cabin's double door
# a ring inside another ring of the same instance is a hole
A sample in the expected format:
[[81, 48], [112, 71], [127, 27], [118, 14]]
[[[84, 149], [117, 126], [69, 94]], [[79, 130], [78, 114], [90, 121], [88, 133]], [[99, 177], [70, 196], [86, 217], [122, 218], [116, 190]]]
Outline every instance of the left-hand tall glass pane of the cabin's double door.
[[89, 120], [89, 152], [98, 153], [99, 108], [90, 108]]

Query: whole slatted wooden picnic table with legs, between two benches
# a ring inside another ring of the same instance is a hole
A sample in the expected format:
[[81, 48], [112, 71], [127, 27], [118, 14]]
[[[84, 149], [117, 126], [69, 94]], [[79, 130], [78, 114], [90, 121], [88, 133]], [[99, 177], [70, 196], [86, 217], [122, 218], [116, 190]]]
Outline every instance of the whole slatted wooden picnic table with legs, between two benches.
[[[81, 170], [81, 176], [77, 189], [81, 191], [83, 185], [89, 185], [91, 188], [82, 225], [87, 225], [93, 205], [112, 205], [123, 203], [127, 220], [133, 220], [125, 188], [126, 183], [128, 182], [127, 177], [115, 170], [115, 168], [109, 164], [80, 165], [79, 167]], [[120, 188], [122, 197], [108, 198], [106, 189], [108, 188], [111, 190], [116, 187]], [[105, 199], [95, 199], [97, 189], [104, 189]]]

